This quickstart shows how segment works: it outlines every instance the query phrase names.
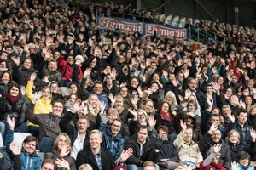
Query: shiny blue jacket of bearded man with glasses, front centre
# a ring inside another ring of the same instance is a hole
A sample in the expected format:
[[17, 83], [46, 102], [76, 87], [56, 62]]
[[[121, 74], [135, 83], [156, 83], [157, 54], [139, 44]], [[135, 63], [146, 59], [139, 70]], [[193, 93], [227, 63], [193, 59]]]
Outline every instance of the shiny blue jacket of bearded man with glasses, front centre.
[[102, 132], [102, 149], [110, 151], [113, 159], [117, 161], [125, 148], [124, 136], [119, 133], [113, 137], [110, 128], [102, 123], [99, 130]]

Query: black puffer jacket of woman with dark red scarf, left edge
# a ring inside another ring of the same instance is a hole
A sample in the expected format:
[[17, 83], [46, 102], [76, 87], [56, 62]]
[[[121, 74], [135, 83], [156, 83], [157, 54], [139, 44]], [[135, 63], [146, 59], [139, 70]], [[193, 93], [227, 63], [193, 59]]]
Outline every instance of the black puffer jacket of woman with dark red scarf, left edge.
[[26, 99], [21, 97], [17, 103], [11, 104], [8, 99], [5, 97], [0, 98], [0, 120], [6, 120], [6, 117], [9, 115], [10, 118], [15, 117], [15, 127], [20, 126], [25, 120], [25, 111], [26, 111]]

